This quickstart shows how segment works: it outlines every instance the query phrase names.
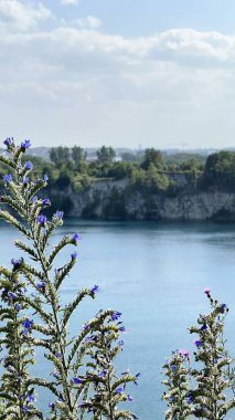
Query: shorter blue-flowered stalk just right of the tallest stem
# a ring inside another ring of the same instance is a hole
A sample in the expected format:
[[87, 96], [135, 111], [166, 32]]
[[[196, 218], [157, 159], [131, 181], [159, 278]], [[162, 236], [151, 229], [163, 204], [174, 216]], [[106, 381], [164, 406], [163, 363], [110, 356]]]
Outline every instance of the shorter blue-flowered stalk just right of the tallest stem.
[[114, 321], [120, 317], [120, 313], [114, 312], [106, 325], [86, 338], [89, 346], [92, 361], [87, 364], [89, 370], [87, 377], [94, 385], [95, 395], [82, 402], [87, 407], [95, 419], [137, 419], [129, 410], [118, 409], [119, 402], [132, 401], [132, 397], [126, 393], [128, 382], [138, 385], [140, 374], [132, 376], [129, 371], [116, 376], [114, 360], [122, 349], [120, 332], [125, 332], [121, 322], [114, 325]]

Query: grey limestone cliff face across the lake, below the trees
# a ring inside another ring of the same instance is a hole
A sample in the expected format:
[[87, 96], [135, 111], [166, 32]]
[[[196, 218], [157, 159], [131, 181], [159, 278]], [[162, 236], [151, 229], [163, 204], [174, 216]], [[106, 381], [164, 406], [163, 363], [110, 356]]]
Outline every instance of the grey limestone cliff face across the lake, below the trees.
[[235, 192], [201, 191], [186, 185], [170, 197], [135, 190], [127, 180], [99, 181], [82, 192], [63, 191], [63, 200], [71, 202], [67, 216], [77, 218], [235, 221]]

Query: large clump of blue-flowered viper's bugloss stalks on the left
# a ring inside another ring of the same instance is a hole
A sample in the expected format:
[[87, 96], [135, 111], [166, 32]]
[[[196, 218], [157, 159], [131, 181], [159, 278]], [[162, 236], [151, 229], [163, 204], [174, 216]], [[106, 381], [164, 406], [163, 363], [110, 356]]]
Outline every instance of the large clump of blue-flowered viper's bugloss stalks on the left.
[[[35, 179], [32, 162], [22, 162], [30, 140], [17, 146], [13, 138], [7, 138], [4, 145], [9, 156], [0, 156], [7, 167], [6, 192], [0, 201], [7, 209], [0, 210], [0, 218], [20, 232], [14, 244], [22, 256], [11, 260], [11, 270], [0, 267], [1, 419], [135, 419], [129, 410], [119, 409], [119, 402], [131, 400], [126, 393], [127, 382], [137, 382], [138, 378], [116, 376], [114, 363], [122, 348], [125, 329], [120, 314], [102, 311], [71, 337], [71, 317], [85, 297], [95, 297], [98, 286], [79, 290], [70, 304], [62, 304], [61, 287], [76, 264], [77, 252], [72, 250], [62, 266], [56, 261], [65, 246], [78, 244], [79, 234], [65, 235], [52, 248], [51, 237], [63, 224], [63, 211], [56, 211], [51, 220], [45, 213], [51, 202], [41, 190], [47, 185], [47, 176]], [[52, 365], [47, 378], [30, 374], [30, 365], [36, 363], [36, 347], [44, 348], [44, 357]], [[36, 408], [39, 387], [51, 391], [51, 402], [43, 412]]]

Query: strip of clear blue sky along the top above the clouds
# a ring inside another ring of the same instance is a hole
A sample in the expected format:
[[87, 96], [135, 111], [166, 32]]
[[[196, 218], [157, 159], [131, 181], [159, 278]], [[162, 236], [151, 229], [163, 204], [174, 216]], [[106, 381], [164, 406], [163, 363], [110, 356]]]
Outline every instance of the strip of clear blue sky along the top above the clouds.
[[60, 15], [95, 14], [109, 33], [150, 35], [173, 28], [235, 31], [234, 0], [83, 0], [77, 7], [52, 4]]

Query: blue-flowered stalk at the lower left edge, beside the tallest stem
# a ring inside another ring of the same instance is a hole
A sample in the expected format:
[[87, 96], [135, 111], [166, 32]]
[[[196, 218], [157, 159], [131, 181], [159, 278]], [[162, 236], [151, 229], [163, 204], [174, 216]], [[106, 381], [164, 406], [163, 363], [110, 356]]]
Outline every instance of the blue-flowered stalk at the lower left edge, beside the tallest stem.
[[34, 364], [34, 351], [30, 339], [31, 323], [23, 315], [28, 307], [22, 301], [25, 283], [19, 277], [15, 266], [12, 271], [0, 267], [0, 273], [3, 303], [0, 308], [0, 332], [3, 333], [0, 343], [7, 350], [2, 359], [1, 419], [42, 419], [42, 413], [33, 405], [35, 395], [29, 375], [29, 367]]

